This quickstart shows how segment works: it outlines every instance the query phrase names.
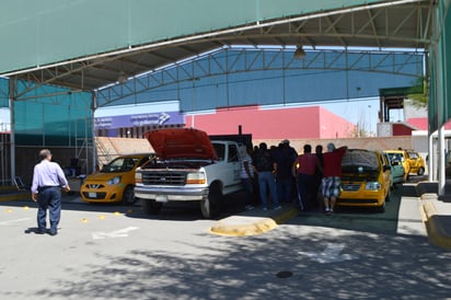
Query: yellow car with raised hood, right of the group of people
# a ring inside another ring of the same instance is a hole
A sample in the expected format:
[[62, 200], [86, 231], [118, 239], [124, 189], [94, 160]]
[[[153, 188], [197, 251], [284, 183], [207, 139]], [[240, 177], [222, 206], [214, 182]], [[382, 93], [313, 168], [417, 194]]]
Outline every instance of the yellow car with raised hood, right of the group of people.
[[338, 206], [374, 207], [385, 210], [390, 200], [391, 166], [380, 151], [348, 149], [342, 162], [342, 191]]

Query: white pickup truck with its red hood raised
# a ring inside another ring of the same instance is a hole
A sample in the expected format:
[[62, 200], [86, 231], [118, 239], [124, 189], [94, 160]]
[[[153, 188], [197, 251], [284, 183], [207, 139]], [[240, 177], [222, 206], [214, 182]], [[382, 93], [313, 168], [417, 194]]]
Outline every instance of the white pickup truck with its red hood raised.
[[135, 197], [151, 215], [169, 201], [199, 201], [205, 218], [216, 217], [223, 195], [243, 189], [236, 141], [212, 140], [193, 128], [163, 128], [146, 138], [155, 160], [137, 169]]

